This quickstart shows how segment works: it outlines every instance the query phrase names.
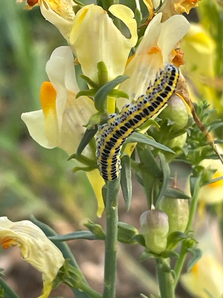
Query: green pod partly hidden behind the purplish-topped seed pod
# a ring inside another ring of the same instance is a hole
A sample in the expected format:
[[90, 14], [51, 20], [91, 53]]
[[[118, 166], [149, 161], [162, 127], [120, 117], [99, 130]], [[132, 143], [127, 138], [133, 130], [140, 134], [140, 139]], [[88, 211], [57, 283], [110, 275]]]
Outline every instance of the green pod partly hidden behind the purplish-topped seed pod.
[[169, 233], [185, 231], [189, 217], [188, 200], [164, 196], [159, 204], [159, 208], [168, 215]]

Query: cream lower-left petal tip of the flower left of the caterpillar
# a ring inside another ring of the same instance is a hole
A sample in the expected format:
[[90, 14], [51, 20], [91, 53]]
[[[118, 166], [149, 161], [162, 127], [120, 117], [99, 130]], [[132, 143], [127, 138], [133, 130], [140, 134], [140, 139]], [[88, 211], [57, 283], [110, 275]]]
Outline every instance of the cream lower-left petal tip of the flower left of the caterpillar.
[[26, 124], [29, 134], [34, 141], [42, 147], [49, 149], [54, 148], [46, 138], [45, 120], [42, 110], [22, 113], [21, 118]]

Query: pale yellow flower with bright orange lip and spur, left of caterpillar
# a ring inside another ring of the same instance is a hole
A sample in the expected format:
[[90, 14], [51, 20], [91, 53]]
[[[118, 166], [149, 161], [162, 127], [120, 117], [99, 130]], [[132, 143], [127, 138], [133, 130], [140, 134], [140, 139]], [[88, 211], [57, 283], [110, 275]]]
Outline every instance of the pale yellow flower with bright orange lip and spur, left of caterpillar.
[[[77, 150], [85, 127], [91, 115], [96, 113], [93, 101], [87, 96], [76, 99], [80, 91], [76, 81], [73, 54], [69, 47], [58, 47], [46, 63], [46, 73], [50, 82], [44, 82], [41, 88], [42, 110], [23, 113], [30, 136], [45, 148], [59, 147], [69, 155]], [[83, 151], [92, 157], [89, 147]], [[101, 188], [104, 180], [99, 171], [92, 176], [87, 173], [93, 189], [97, 189], [98, 215], [104, 204]], [[97, 183], [97, 187], [95, 186]]]

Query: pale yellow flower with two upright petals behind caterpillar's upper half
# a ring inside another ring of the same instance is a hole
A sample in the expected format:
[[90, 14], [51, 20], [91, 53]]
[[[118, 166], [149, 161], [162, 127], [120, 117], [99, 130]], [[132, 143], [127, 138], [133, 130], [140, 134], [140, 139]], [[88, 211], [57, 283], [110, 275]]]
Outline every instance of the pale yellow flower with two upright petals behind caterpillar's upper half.
[[[130, 101], [144, 94], [159, 69], [173, 60], [173, 49], [190, 28], [184, 16], [172, 16], [163, 23], [161, 18], [159, 13], [151, 20], [135, 55], [127, 63], [124, 74], [130, 78], [119, 88], [129, 94]], [[126, 99], [118, 99], [117, 106], [121, 109], [126, 103]]]

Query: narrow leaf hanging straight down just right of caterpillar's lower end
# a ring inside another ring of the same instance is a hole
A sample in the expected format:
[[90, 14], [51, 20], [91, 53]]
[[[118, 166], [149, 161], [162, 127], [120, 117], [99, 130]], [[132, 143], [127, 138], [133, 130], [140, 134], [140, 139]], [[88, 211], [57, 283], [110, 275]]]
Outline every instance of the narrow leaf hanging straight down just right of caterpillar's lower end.
[[131, 177], [130, 157], [128, 155], [122, 156], [121, 166], [122, 168], [121, 168], [120, 184], [121, 184], [123, 198], [125, 201], [125, 207], [127, 211], [129, 211], [131, 199], [132, 199], [132, 177]]

